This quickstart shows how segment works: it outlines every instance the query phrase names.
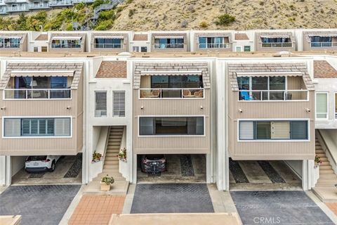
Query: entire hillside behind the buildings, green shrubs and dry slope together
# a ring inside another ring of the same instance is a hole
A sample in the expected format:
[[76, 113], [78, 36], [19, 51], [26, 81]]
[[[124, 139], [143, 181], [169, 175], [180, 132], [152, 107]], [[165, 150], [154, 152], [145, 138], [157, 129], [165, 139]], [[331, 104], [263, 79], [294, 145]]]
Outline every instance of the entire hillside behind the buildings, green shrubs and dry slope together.
[[[95, 7], [40, 11], [0, 18], [0, 30], [249, 30], [337, 28], [337, 0], [126, 0], [91, 23]], [[219, 22], [219, 16], [234, 22]]]

